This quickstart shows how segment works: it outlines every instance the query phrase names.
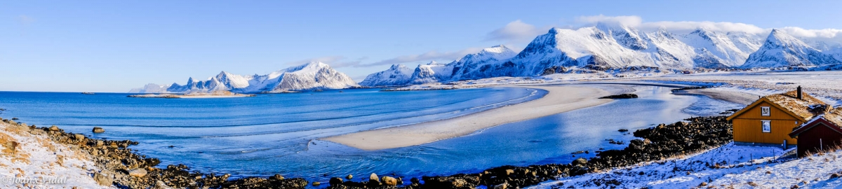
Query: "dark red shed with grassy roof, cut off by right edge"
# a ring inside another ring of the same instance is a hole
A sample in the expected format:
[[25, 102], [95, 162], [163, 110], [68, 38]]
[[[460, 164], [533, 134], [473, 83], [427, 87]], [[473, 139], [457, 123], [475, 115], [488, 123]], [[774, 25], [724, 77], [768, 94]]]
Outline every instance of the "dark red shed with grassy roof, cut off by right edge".
[[842, 108], [816, 116], [790, 133], [798, 139], [798, 157], [842, 147]]

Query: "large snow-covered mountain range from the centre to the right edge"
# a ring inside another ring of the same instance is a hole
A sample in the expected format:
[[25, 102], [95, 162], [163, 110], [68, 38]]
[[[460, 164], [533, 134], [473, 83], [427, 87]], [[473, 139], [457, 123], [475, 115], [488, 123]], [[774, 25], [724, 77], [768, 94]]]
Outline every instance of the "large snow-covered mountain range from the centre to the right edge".
[[[666, 29], [642, 31], [621, 24], [579, 29], [550, 29], [520, 53], [503, 45], [465, 55], [449, 64], [392, 66], [368, 76], [367, 87], [482, 79], [497, 76], [541, 76], [578, 67], [653, 67], [685, 71], [697, 68], [842, 66], [842, 43], [798, 39], [773, 29], [768, 36], [746, 32], [695, 29], [681, 34]], [[639, 69], [632, 69], [639, 70]], [[649, 69], [647, 69], [649, 70]]]

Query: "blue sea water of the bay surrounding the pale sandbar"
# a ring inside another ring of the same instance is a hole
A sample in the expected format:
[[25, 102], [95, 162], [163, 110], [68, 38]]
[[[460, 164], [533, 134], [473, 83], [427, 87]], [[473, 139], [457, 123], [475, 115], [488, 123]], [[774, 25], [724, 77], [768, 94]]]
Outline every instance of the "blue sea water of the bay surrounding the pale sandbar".
[[[633, 139], [617, 129], [642, 129], [739, 105], [702, 96], [676, 96], [667, 87], [636, 87], [623, 99], [392, 150], [356, 150], [318, 140], [360, 130], [452, 118], [542, 97], [536, 89], [379, 92], [354, 89], [163, 99], [122, 93], [0, 92], [3, 118], [57, 125], [93, 138], [131, 139], [141, 154], [196, 171], [234, 176], [306, 177], [327, 181], [354, 174], [433, 176], [481, 171], [499, 165], [568, 163], [593, 151], [620, 149], [605, 139]], [[93, 126], [106, 129], [93, 134]], [[173, 147], [169, 147], [173, 146]], [[589, 150], [574, 157], [570, 153]]]

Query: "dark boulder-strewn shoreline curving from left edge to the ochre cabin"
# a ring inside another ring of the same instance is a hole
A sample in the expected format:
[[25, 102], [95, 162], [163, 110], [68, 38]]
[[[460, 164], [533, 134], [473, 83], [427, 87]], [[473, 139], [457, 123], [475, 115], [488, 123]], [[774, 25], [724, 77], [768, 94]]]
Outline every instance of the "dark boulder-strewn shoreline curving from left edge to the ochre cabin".
[[[636, 137], [623, 150], [605, 150], [597, 157], [586, 160], [579, 158], [569, 164], [548, 164], [529, 166], [500, 166], [470, 174], [453, 176], [382, 176], [371, 174], [368, 181], [344, 181], [332, 178], [327, 184], [331, 189], [354, 188], [519, 188], [534, 186], [542, 181], [556, 180], [563, 176], [578, 176], [611, 168], [635, 165], [644, 161], [663, 160], [676, 155], [707, 150], [726, 144], [732, 139], [731, 124], [725, 117], [689, 118], [688, 122], [660, 124], [649, 129], [634, 132]], [[88, 158], [96, 162], [99, 170], [93, 178], [102, 186], [122, 188], [305, 188], [308, 185], [325, 186], [319, 182], [310, 183], [302, 178], [284, 178], [281, 175], [247, 177], [229, 180], [229, 174], [202, 173], [190, 171], [186, 165], [167, 165], [157, 168], [160, 160], [137, 155], [130, 140], [89, 139], [83, 134], [64, 132], [56, 126], [35, 127], [13, 120], [3, 120], [16, 127], [26, 129], [29, 134], [47, 135], [57, 143], [67, 144], [73, 149], [83, 150]], [[350, 178], [348, 176], [346, 178]], [[350, 179], [349, 179], [350, 180]], [[610, 183], [605, 183], [606, 186]]]

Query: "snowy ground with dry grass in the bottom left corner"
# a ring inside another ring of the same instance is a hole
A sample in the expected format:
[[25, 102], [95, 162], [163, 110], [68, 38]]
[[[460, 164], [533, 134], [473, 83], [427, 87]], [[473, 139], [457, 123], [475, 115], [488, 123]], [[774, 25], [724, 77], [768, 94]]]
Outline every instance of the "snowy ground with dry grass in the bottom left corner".
[[93, 161], [43, 132], [0, 122], [0, 188], [108, 188], [93, 180]]

